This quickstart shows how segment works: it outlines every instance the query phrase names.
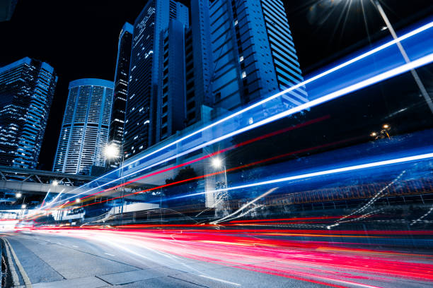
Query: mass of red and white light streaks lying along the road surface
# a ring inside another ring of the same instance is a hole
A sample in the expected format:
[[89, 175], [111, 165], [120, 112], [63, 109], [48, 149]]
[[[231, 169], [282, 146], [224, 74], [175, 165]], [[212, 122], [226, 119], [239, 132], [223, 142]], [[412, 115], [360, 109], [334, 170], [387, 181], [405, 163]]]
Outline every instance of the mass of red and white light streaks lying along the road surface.
[[[67, 234], [74, 230], [73, 234]], [[183, 263], [182, 258], [202, 260], [240, 270], [250, 270], [269, 275], [289, 277], [306, 282], [335, 287], [393, 287], [409, 281], [416, 285], [432, 284], [432, 256], [417, 253], [400, 253], [386, 249], [368, 248], [362, 243], [330, 244], [326, 241], [299, 239], [287, 240], [287, 236], [304, 237], [347, 236], [364, 239], [362, 231], [328, 230], [270, 230], [270, 229], [39, 229], [35, 232], [80, 237], [88, 241], [101, 241], [104, 248], [115, 248], [132, 256], [156, 261], [162, 265]], [[275, 233], [272, 233], [275, 232]], [[278, 234], [278, 233], [281, 234]], [[286, 232], [286, 234], [284, 234]], [[370, 233], [370, 232], [369, 232]], [[379, 237], [412, 232], [375, 231]], [[420, 234], [427, 233], [420, 231]], [[433, 232], [428, 232], [430, 235]], [[173, 238], [175, 234], [175, 238]], [[265, 238], [269, 234], [272, 238]], [[255, 236], [261, 236], [257, 238]], [[279, 236], [279, 238], [275, 238]], [[367, 248], [354, 248], [359, 246]], [[160, 254], [161, 253], [161, 254]], [[162, 257], [155, 258], [160, 255]], [[164, 260], [166, 259], [166, 260]], [[200, 271], [197, 275], [224, 278], [218, 270]], [[231, 279], [227, 279], [233, 281]], [[238, 281], [236, 281], [238, 282]], [[242, 281], [239, 283], [243, 284]], [[343, 286], [340, 286], [343, 285]]]

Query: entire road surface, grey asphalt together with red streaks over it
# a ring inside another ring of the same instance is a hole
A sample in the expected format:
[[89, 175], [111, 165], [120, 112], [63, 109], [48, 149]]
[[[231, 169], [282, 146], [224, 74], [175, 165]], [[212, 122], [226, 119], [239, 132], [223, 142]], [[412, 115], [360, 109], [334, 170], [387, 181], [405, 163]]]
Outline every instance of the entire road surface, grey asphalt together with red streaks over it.
[[2, 236], [35, 288], [433, 287], [430, 256], [206, 234], [47, 229]]

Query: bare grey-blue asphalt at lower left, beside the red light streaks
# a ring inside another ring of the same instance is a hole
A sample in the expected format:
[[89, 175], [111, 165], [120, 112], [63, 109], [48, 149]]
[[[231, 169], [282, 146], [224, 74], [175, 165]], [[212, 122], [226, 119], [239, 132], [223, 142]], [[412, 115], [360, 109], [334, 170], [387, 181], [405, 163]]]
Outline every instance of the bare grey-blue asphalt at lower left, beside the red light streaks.
[[[21, 232], [6, 237], [33, 287], [324, 287], [146, 247]], [[23, 284], [23, 282], [22, 282]]]

